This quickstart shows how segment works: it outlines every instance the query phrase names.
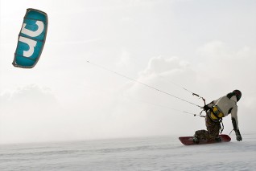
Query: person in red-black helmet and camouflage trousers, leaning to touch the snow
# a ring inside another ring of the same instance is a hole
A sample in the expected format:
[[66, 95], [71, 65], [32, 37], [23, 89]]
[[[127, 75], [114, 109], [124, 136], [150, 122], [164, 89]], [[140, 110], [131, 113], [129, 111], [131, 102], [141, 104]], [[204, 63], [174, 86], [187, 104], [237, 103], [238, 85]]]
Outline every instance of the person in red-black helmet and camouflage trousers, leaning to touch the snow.
[[221, 129], [222, 117], [228, 116], [231, 113], [233, 130], [236, 132], [237, 141], [242, 140], [238, 128], [237, 120], [237, 101], [240, 100], [242, 92], [234, 90], [226, 96], [222, 96], [218, 100], [213, 100], [211, 103], [204, 105], [205, 125], [207, 130], [198, 130], [193, 136], [193, 141], [199, 143], [200, 140], [217, 140], [221, 141], [219, 132]]

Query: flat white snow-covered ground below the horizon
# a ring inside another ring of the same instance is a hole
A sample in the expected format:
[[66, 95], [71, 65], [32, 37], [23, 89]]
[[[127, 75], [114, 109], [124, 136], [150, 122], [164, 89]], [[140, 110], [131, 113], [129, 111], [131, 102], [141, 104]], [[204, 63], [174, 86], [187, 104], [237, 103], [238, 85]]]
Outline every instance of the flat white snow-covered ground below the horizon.
[[231, 137], [191, 146], [178, 136], [1, 145], [0, 170], [256, 170], [256, 134]]

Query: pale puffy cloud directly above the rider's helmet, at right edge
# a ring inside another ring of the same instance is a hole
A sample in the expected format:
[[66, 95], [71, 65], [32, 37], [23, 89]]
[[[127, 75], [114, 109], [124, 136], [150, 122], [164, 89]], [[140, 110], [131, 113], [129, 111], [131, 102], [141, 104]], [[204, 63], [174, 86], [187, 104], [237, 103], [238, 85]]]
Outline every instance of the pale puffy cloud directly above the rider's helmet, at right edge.
[[[199, 48], [199, 55], [202, 73], [209, 79], [217, 80], [218, 83], [225, 84], [225, 87], [247, 87], [250, 83], [255, 86], [253, 79], [248, 79], [246, 75], [256, 73], [254, 67], [254, 56], [256, 51], [253, 47], [229, 47], [225, 43], [211, 42]], [[245, 84], [246, 83], [246, 84]], [[216, 84], [217, 88], [223, 88]], [[247, 88], [245, 88], [246, 90]], [[251, 89], [251, 88], [250, 88]]]

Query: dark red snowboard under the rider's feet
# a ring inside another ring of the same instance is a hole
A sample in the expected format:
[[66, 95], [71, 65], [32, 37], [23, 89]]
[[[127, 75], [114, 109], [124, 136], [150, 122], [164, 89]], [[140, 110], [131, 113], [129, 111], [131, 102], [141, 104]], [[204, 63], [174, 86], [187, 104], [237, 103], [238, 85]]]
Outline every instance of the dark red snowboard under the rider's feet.
[[193, 142], [193, 136], [180, 136], [180, 142], [184, 145], [205, 145], [205, 144], [213, 144], [213, 143], [221, 143], [221, 142], [229, 142], [231, 138], [228, 135], [221, 134], [221, 141], [218, 142], [216, 140], [200, 140], [198, 144]]

